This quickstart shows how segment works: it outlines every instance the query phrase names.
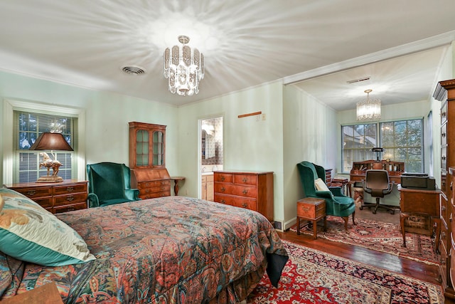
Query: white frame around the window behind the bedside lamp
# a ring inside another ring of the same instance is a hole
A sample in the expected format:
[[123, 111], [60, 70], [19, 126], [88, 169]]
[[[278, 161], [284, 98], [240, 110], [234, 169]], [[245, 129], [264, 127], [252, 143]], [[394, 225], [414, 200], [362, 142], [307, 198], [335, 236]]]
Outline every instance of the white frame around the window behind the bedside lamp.
[[32, 103], [23, 100], [4, 100], [3, 123], [1, 125], [3, 135], [3, 182], [4, 184], [13, 183], [14, 170], [14, 110], [26, 110], [28, 112], [49, 111], [58, 112], [63, 115], [77, 115], [77, 137], [78, 150], [75, 157], [75, 169], [77, 169], [77, 179], [85, 180], [85, 110], [81, 108], [63, 107], [50, 105], [48, 103]]

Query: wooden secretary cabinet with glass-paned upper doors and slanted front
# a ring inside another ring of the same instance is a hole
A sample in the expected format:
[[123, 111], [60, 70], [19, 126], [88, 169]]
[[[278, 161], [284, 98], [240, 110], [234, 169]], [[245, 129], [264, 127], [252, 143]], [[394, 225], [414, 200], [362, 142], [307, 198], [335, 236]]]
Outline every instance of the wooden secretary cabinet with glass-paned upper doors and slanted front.
[[171, 195], [171, 177], [166, 169], [166, 126], [129, 122], [129, 168], [132, 188], [141, 199]]

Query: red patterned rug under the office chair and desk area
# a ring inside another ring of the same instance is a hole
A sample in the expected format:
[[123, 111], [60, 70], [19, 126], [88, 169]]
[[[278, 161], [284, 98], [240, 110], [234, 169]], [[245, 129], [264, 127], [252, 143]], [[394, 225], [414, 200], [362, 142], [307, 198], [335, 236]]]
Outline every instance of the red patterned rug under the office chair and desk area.
[[[356, 225], [349, 219], [348, 233], [344, 229], [344, 221], [339, 216], [327, 216], [327, 231], [323, 231], [322, 223], [318, 223], [318, 237], [341, 243], [362, 246], [375, 251], [390, 253], [402, 258], [410, 258], [428, 264], [439, 265], [439, 256], [433, 251], [433, 242], [429, 236], [406, 233], [406, 248], [402, 247], [403, 236], [400, 225], [355, 219]], [[313, 229], [308, 221], [301, 221], [301, 234], [313, 236]], [[296, 225], [291, 231], [296, 231]]]

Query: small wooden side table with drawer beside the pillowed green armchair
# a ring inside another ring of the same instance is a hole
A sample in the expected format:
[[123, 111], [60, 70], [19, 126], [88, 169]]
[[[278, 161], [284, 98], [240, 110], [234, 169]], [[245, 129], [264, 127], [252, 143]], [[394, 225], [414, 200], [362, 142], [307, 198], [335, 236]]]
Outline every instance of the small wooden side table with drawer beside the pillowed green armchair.
[[326, 201], [305, 197], [297, 201], [297, 234], [300, 234], [300, 219], [313, 223], [313, 238], [317, 239], [317, 222], [324, 219], [324, 231], [327, 229]]

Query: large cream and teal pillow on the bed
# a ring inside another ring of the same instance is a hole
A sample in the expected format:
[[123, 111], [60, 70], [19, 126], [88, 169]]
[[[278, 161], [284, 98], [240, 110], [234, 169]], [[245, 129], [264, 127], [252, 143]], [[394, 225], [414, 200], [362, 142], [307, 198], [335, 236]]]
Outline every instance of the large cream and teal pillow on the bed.
[[43, 266], [95, 260], [77, 232], [27, 196], [0, 188], [0, 251]]

